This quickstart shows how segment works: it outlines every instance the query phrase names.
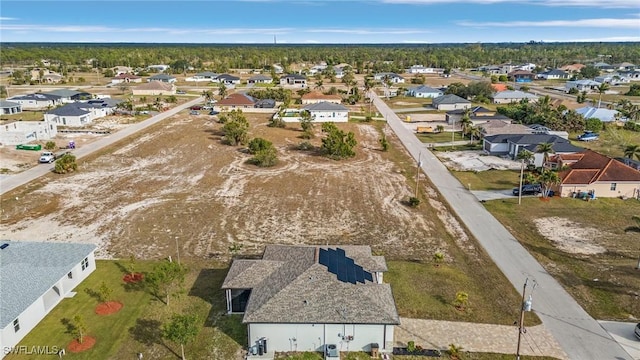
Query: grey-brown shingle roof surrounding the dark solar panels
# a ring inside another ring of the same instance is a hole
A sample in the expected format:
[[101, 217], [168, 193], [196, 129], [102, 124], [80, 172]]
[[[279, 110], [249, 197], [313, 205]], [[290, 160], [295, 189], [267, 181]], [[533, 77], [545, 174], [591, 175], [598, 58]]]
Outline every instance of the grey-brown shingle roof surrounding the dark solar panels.
[[[399, 324], [389, 284], [338, 280], [318, 262], [327, 248], [268, 245], [262, 260], [234, 261], [222, 288], [252, 289], [244, 323]], [[365, 271], [387, 269], [368, 246], [340, 248]]]

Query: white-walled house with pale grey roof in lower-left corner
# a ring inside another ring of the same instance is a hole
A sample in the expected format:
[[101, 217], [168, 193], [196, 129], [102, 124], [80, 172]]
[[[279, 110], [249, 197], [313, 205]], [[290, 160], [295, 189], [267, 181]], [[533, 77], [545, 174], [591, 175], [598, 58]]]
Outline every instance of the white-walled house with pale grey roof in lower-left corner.
[[16, 346], [96, 269], [95, 250], [91, 244], [0, 242], [0, 349]]

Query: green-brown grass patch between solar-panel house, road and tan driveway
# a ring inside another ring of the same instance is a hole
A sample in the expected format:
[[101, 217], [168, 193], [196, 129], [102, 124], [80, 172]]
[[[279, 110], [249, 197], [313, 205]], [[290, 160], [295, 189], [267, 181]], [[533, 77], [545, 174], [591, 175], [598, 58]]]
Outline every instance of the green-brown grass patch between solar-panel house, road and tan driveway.
[[[481, 272], [470, 271], [455, 259], [439, 266], [418, 261], [387, 264], [385, 280], [391, 284], [402, 317], [502, 325], [512, 325], [518, 319], [522, 299], [493, 264], [482, 266]], [[464, 311], [454, 306], [458, 291], [469, 294]], [[540, 324], [535, 314], [526, 316], [527, 324]]]

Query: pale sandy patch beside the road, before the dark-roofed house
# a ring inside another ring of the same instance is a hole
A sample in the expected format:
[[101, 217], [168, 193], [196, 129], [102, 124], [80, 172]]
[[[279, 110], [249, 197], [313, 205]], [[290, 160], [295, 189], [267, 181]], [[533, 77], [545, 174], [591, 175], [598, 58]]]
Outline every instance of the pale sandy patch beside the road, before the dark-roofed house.
[[496, 170], [518, 170], [520, 163], [511, 159], [484, 154], [477, 151], [446, 151], [435, 153], [440, 160], [452, 170], [458, 171], [485, 171]]

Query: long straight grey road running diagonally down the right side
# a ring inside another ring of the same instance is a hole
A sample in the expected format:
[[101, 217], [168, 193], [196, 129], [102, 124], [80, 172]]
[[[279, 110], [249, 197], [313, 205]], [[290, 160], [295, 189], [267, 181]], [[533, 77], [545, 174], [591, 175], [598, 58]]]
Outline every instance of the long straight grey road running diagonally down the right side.
[[[498, 222], [471, 192], [451, 175], [447, 168], [415, 135], [404, 127], [400, 118], [375, 94], [374, 105], [417, 161], [422, 171], [447, 199], [480, 245], [498, 265], [507, 279], [522, 291], [529, 279], [527, 297], [533, 295], [533, 310], [560, 343], [570, 359], [627, 360], [630, 355], [587, 314], [562, 286], [531, 256], [527, 250]], [[522, 293], [521, 293], [522, 294]], [[486, 304], [490, 306], [490, 304]], [[518, 306], [518, 304], [514, 304]], [[515, 320], [515, 319], [514, 319]], [[526, 326], [526, 324], [525, 324]], [[516, 344], [514, 344], [515, 353]]]

